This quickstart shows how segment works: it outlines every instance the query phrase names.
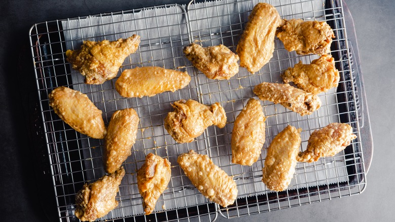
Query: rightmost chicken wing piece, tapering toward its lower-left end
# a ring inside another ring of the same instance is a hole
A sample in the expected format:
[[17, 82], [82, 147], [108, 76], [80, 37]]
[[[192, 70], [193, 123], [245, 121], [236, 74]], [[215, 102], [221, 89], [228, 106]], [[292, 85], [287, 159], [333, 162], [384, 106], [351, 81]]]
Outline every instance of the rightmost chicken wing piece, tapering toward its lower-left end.
[[296, 157], [299, 162], [314, 162], [320, 157], [332, 157], [357, 138], [352, 127], [344, 123], [331, 123], [311, 133], [307, 148]]

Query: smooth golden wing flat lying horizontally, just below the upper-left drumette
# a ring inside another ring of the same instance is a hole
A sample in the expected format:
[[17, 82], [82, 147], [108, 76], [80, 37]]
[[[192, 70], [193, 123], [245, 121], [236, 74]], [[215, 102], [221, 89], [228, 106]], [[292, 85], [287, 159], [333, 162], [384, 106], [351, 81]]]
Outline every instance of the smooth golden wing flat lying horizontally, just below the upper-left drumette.
[[115, 82], [116, 91], [123, 97], [154, 96], [165, 91], [176, 91], [190, 82], [188, 72], [157, 66], [136, 67], [122, 72]]

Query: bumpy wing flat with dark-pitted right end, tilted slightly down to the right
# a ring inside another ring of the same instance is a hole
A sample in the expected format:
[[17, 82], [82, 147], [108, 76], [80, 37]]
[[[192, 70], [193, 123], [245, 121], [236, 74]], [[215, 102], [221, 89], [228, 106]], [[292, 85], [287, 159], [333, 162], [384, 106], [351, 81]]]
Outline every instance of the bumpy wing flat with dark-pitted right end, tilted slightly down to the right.
[[289, 84], [263, 82], [255, 86], [254, 93], [259, 99], [280, 103], [300, 116], [310, 115], [321, 106], [321, 99], [317, 95]]

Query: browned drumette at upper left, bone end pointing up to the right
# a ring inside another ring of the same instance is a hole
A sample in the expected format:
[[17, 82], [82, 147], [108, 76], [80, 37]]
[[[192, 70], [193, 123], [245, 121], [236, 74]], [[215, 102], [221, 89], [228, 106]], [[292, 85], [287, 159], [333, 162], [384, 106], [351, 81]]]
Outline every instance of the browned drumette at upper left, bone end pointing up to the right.
[[102, 84], [116, 76], [125, 58], [136, 52], [139, 44], [140, 36], [136, 34], [113, 42], [84, 41], [81, 49], [66, 51], [66, 60], [85, 76], [86, 84]]

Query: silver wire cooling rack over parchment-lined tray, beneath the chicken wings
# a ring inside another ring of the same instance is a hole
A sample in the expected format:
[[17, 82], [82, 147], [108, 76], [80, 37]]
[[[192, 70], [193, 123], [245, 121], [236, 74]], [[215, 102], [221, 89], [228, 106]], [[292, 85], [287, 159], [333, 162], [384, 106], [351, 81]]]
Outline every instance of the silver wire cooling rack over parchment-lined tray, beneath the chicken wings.
[[[230, 80], [210, 80], [195, 69], [183, 55], [182, 49], [191, 42], [202, 46], [223, 44], [235, 51], [248, 15], [258, 1], [190, 2], [186, 6], [163, 5], [122, 12], [37, 23], [30, 30], [31, 52], [35, 68], [39, 105], [45, 139], [51, 163], [51, 174], [60, 221], [77, 221], [74, 216], [75, 194], [85, 182], [105, 175], [102, 163], [103, 141], [89, 138], [65, 124], [53, 112], [48, 94], [58, 86], [67, 86], [88, 95], [103, 111], [108, 124], [115, 110], [133, 107], [140, 124], [132, 155], [123, 166], [127, 174], [122, 180], [116, 200], [119, 206], [100, 220], [215, 220], [268, 212], [294, 206], [321, 202], [360, 194], [366, 184], [364, 158], [360, 139], [360, 116], [353, 84], [351, 53], [347, 42], [341, 1], [296, 0], [266, 1], [284, 19], [327, 21], [336, 39], [331, 54], [340, 72], [337, 89], [320, 94], [322, 107], [312, 115], [300, 115], [279, 104], [261, 101], [266, 120], [266, 141], [262, 155], [253, 166], [231, 164], [230, 138], [235, 117], [261, 82], [281, 82], [280, 74], [302, 60], [309, 63], [317, 55], [299, 56], [288, 52], [276, 38], [273, 58], [259, 72], [251, 75], [244, 68]], [[123, 98], [114, 89], [117, 78], [102, 85], [86, 85], [80, 73], [65, 61], [67, 49], [78, 49], [84, 40], [101, 41], [141, 36], [136, 53], [126, 58], [119, 74], [138, 66], [161, 66], [188, 71], [190, 84], [174, 93], [165, 92], [152, 97]], [[172, 110], [171, 103], [179, 99], [195, 99], [204, 104], [220, 102], [227, 124], [223, 129], [211, 126], [193, 142], [178, 144], [166, 132], [163, 121]], [[287, 125], [302, 128], [302, 145], [306, 148], [309, 135], [332, 122], [353, 127], [358, 136], [343, 152], [314, 163], [298, 163], [289, 188], [284, 192], [266, 189], [262, 166], [266, 149], [273, 137]], [[222, 208], [200, 194], [177, 164], [177, 157], [188, 150], [209, 155], [213, 162], [237, 183], [239, 194], [233, 205]], [[142, 198], [137, 189], [136, 172], [148, 153], [168, 158], [172, 178], [168, 189], [156, 203], [155, 211], [143, 215]]]

